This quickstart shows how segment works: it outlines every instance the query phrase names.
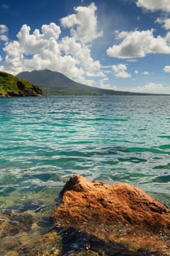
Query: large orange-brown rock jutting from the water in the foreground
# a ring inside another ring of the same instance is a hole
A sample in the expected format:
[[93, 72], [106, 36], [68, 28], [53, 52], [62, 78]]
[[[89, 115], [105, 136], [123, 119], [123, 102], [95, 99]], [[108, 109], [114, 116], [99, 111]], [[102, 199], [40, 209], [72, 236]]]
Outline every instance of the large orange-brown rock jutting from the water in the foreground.
[[74, 175], [52, 214], [59, 227], [74, 227], [129, 251], [168, 255], [170, 209], [130, 184], [104, 184]]

